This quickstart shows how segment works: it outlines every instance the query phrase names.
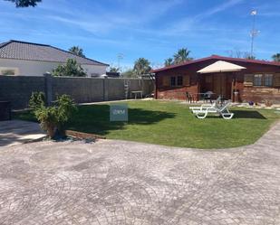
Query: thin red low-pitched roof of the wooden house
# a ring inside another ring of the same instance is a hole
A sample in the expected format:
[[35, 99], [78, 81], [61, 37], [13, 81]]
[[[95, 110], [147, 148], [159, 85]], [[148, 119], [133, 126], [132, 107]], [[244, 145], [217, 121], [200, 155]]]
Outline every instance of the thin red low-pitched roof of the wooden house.
[[186, 61], [177, 65], [170, 65], [167, 67], [159, 68], [156, 70], [151, 70], [151, 72], [159, 72], [163, 70], [170, 70], [174, 68], [179, 68], [182, 66], [187, 66], [190, 64], [198, 63], [200, 61], [208, 61], [208, 60], [217, 60], [217, 61], [239, 61], [239, 62], [248, 62], [248, 63], [256, 63], [256, 64], [263, 64], [263, 65], [272, 65], [272, 66], [280, 66], [280, 62], [276, 61], [258, 61], [258, 60], [246, 60], [246, 59], [239, 59], [239, 58], [232, 58], [232, 57], [225, 57], [225, 56], [219, 56], [219, 55], [211, 55], [206, 58], [194, 60], [194, 61]]

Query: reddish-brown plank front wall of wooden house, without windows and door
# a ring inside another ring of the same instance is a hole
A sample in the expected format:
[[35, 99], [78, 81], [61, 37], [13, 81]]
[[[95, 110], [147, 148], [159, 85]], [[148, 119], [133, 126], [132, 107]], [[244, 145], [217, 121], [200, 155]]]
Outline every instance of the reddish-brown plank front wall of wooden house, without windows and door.
[[[171, 68], [169, 70], [159, 70], [156, 72], [156, 98], [177, 98], [177, 99], [186, 99], [186, 92], [190, 93], [198, 93], [203, 91], [203, 80], [202, 77], [204, 75], [199, 74], [198, 70], [205, 68], [206, 66], [214, 63], [217, 60], [207, 60], [207, 61], [199, 61], [198, 63], [183, 65], [175, 68]], [[246, 70], [242, 70], [240, 72], [235, 72], [234, 75], [237, 76], [237, 83], [235, 88], [239, 91], [238, 99], [234, 99], [237, 101], [250, 101], [253, 100], [255, 102], [264, 102], [265, 100], [272, 100], [274, 103], [280, 103], [280, 90], [277, 88], [258, 88], [258, 87], [244, 87], [244, 76], [245, 74], [255, 74], [255, 73], [263, 73], [263, 74], [280, 74], [280, 67], [274, 65], [266, 65], [259, 63], [252, 63], [246, 61], [229, 61], [228, 62], [235, 63], [237, 65], [243, 66]], [[171, 76], [190, 76], [190, 85], [183, 85], [182, 87], [164, 87], [163, 79], [164, 77], [170, 78]], [[227, 98], [230, 98], [232, 95], [232, 91], [234, 87], [231, 86], [232, 75], [230, 73], [226, 73], [227, 76]], [[229, 77], [231, 76], [231, 77]], [[206, 86], [205, 86], [206, 87]], [[210, 88], [208, 88], [210, 89]], [[213, 92], [215, 89], [213, 89]], [[194, 97], [195, 99], [197, 96]]]

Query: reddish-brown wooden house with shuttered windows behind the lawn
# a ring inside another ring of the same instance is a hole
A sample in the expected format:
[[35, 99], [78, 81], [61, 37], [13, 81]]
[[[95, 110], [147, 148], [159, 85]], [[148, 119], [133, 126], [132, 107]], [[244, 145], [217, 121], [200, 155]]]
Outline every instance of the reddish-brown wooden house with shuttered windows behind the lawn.
[[232, 101], [280, 103], [280, 63], [212, 55], [179, 65], [152, 70], [156, 98], [195, 100], [211, 91]]

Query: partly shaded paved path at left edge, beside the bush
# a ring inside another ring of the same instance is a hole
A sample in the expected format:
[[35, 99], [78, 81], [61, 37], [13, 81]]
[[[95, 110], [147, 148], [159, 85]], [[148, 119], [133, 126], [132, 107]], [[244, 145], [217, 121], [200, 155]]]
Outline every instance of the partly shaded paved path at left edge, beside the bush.
[[37, 123], [22, 120], [0, 121], [0, 146], [19, 145], [43, 136], [45, 134]]

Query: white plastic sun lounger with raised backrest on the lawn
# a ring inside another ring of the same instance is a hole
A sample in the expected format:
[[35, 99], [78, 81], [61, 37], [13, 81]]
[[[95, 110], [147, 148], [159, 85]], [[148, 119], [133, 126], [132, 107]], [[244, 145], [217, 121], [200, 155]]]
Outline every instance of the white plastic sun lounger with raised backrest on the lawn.
[[202, 110], [195, 110], [195, 114], [198, 118], [206, 118], [208, 113], [214, 113], [222, 116], [225, 119], [231, 119], [234, 116], [234, 113], [229, 112], [228, 107], [230, 106], [230, 102], [221, 108], [206, 108]]

